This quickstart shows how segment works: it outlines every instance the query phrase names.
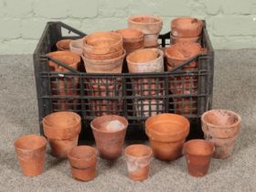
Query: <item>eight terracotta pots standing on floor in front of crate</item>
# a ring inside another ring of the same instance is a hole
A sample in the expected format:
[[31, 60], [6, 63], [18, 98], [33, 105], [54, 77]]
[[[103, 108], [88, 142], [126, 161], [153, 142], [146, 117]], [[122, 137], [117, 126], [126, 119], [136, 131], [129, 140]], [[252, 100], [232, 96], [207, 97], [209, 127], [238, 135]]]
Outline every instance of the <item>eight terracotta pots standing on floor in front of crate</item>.
[[[69, 116], [70, 115], [70, 116]], [[97, 152], [91, 146], [77, 146], [80, 119], [74, 112], [55, 112], [44, 118], [44, 131], [51, 146], [52, 155], [69, 157], [72, 175], [80, 180], [96, 176]], [[148, 118], [145, 133], [150, 147], [143, 144], [130, 145], [125, 149], [129, 176], [144, 180], [149, 172], [152, 154], [164, 161], [175, 160], [184, 153], [188, 173], [205, 176], [210, 158], [227, 158], [240, 132], [240, 116], [227, 110], [212, 110], [202, 115], [202, 130], [206, 140], [190, 140], [187, 118], [173, 113], [163, 113]], [[124, 136], [128, 122], [118, 115], [103, 115], [91, 122], [99, 155], [114, 160], [122, 155]], [[71, 141], [71, 142], [70, 142]], [[74, 142], [75, 141], [75, 142]], [[37, 176], [43, 172], [47, 140], [42, 136], [26, 135], [16, 140], [16, 154], [23, 173]]]

